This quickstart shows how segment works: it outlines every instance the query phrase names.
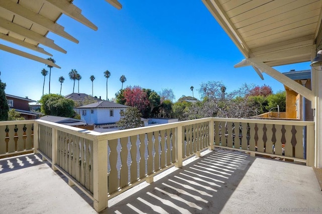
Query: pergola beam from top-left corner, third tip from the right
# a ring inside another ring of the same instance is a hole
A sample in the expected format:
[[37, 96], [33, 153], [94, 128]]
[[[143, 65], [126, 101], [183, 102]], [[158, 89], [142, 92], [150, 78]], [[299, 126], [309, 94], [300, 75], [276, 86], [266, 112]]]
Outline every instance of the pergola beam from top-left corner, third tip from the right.
[[78, 43], [79, 41], [76, 40], [74, 37], [69, 35], [64, 31], [64, 27], [58, 25], [57, 23], [54, 23], [53, 21], [36, 14], [33, 11], [28, 10], [27, 8], [24, 8], [23, 6], [14, 3], [12, 1], [5, 1], [5, 0], [0, 0], [0, 7], [6, 9], [7, 11], [18, 15], [24, 19], [27, 19], [37, 25], [40, 25], [44, 29], [51, 31], [54, 34], [57, 34], [67, 40], [70, 40], [74, 43]]

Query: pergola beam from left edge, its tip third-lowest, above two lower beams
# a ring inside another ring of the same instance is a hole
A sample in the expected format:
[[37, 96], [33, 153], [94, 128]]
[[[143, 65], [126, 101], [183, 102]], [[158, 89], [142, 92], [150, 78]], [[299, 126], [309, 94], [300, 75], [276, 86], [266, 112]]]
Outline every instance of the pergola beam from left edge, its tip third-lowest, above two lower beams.
[[40, 44], [43, 44], [44, 46], [55, 49], [55, 50], [62, 52], [64, 54], [67, 53], [64, 49], [62, 49], [58, 45], [56, 45], [53, 40], [48, 39], [47, 37], [37, 34], [37, 33], [33, 32], [31, 30], [28, 30], [24, 27], [21, 27], [20, 25], [12, 23], [6, 19], [0, 18], [0, 27], [3, 29], [6, 29], [8, 31], [14, 32], [16, 34], [19, 34], [23, 37], [34, 40]]

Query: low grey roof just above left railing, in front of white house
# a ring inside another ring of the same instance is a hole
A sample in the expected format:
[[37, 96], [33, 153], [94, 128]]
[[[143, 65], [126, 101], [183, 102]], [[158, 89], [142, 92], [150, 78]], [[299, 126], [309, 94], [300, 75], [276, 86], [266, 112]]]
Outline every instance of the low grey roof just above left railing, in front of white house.
[[53, 123], [59, 123], [67, 126], [73, 126], [73, 127], [78, 127], [78, 128], [88, 129], [88, 130], [94, 129], [93, 125], [92, 126], [87, 125], [87, 123], [82, 120], [69, 118], [69, 117], [58, 117], [58, 116], [46, 115], [46, 116], [40, 117], [38, 120], [45, 120]]

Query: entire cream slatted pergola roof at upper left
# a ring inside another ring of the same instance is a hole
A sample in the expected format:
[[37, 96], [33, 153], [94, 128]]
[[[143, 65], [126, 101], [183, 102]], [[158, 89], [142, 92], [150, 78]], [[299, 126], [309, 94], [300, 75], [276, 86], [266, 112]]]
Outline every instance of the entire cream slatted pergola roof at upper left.
[[[103, 1], [103, 0], [102, 0]], [[39, 53], [53, 56], [39, 47], [39, 44], [66, 53], [56, 45], [53, 40], [47, 38], [49, 32], [59, 35], [71, 42], [78, 43], [70, 34], [64, 31], [64, 27], [58, 25], [57, 20], [64, 14], [87, 27], [98, 28], [82, 15], [82, 10], [72, 4], [73, 0], [65, 1], [0, 1], [0, 39], [15, 43]], [[117, 9], [122, 6], [117, 0], [106, 0]], [[41, 57], [20, 51], [0, 44], [0, 50], [7, 51], [22, 57], [26, 57], [46, 65], [60, 68], [56, 64]]]

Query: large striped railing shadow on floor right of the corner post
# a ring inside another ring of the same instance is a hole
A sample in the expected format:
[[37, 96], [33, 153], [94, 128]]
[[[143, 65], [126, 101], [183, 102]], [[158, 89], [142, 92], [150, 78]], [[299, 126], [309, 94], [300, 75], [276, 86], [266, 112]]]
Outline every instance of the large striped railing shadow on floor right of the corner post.
[[210, 152], [103, 213], [218, 213], [254, 159], [225, 150]]

